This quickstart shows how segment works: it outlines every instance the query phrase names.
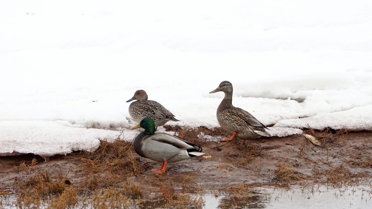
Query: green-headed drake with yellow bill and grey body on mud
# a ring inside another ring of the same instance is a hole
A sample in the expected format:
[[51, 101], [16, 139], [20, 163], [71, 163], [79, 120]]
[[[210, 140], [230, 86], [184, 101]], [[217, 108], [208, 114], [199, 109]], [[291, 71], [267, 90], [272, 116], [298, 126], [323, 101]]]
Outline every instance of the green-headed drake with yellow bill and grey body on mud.
[[138, 134], [134, 139], [134, 150], [141, 157], [162, 162], [160, 168], [151, 169], [157, 174], [166, 171], [168, 162], [178, 162], [205, 154], [201, 152], [203, 149], [198, 145], [169, 134], [155, 134], [155, 124], [151, 118], [142, 119], [140, 124], [131, 129], [135, 128], [144, 128], [145, 131]]

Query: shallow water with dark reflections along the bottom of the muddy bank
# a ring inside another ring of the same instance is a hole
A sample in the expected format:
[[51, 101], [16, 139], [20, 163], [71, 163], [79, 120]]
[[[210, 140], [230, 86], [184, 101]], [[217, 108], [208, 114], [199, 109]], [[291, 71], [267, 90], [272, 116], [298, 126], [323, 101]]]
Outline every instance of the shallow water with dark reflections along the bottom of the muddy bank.
[[[372, 208], [371, 180], [358, 185], [331, 186], [307, 183], [288, 187], [243, 185], [220, 190], [195, 188], [152, 193], [153, 200], [139, 201], [132, 208]], [[19, 208], [16, 194], [0, 195], [0, 208]], [[137, 205], [137, 206], [135, 206]], [[180, 207], [176, 207], [180, 206]], [[77, 208], [79, 208], [77, 206]], [[87, 208], [90, 208], [89, 205]]]

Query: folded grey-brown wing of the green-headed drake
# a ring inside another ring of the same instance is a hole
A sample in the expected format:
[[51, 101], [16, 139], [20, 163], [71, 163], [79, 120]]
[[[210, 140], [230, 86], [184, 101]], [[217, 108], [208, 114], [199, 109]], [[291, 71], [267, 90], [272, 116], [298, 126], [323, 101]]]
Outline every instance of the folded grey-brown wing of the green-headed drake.
[[201, 152], [203, 150], [200, 146], [196, 144], [192, 144], [190, 142], [177, 138], [176, 136], [172, 136], [165, 133], [153, 134], [149, 139], [160, 143], [169, 144], [179, 149], [187, 149], [187, 151], [189, 152], [192, 151]]

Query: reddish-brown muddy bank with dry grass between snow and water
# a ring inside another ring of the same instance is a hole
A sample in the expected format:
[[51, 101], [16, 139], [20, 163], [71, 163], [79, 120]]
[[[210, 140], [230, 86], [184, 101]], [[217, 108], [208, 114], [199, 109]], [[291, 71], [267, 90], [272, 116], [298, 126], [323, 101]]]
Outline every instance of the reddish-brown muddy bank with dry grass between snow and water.
[[[220, 128], [164, 127], [201, 145], [206, 155], [169, 163], [167, 172], [161, 175], [151, 172], [161, 163], [139, 157], [131, 142], [120, 140], [102, 141], [94, 153], [76, 151], [52, 156], [49, 161], [32, 154], [0, 157], [0, 206], [8, 201], [8, 207], [20, 208], [56, 208], [57, 203], [61, 208], [141, 208], [163, 198], [157, 207], [201, 208], [202, 203], [181, 200], [178, 193], [232, 192], [256, 183], [322, 181], [337, 186], [372, 177], [369, 131], [305, 129], [304, 133], [320, 141], [318, 146], [302, 134], [240, 144], [239, 139], [206, 142], [198, 138], [201, 132], [221, 138], [225, 135]], [[14, 200], [9, 202], [12, 196]]]

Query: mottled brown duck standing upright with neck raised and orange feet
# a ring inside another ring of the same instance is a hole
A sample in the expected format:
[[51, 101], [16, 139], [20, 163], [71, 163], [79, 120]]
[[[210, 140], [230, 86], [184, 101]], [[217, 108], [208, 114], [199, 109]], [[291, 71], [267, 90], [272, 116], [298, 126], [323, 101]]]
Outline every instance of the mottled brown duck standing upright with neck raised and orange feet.
[[218, 106], [217, 120], [227, 134], [232, 134], [231, 138], [222, 138], [221, 141], [231, 141], [236, 135], [244, 139], [241, 144], [245, 144], [246, 139], [271, 136], [271, 134], [265, 131], [267, 127], [254, 118], [253, 115], [246, 110], [232, 105], [232, 84], [229, 81], [222, 81], [217, 89], [209, 93], [216, 93], [218, 91], [223, 91], [225, 97]]

